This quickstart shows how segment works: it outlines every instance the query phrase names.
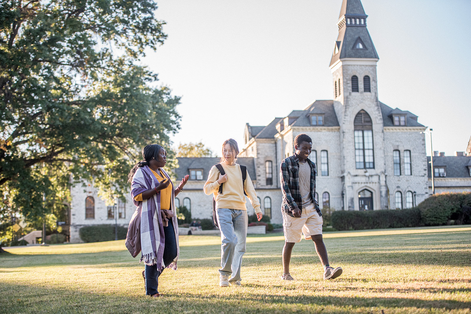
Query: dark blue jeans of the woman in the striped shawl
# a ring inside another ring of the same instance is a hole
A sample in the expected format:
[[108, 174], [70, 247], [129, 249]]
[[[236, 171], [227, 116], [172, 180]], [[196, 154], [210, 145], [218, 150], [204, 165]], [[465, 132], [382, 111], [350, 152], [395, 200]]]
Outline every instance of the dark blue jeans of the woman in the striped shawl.
[[[165, 267], [169, 266], [171, 262], [177, 257], [177, 241], [175, 239], [175, 231], [173, 230], [173, 222], [169, 219], [169, 225], [163, 227], [165, 234], [165, 247], [163, 249], [163, 264]], [[157, 265], [145, 266], [146, 271], [146, 295], [153, 295], [159, 293], [159, 276], [162, 271], [157, 270]]]

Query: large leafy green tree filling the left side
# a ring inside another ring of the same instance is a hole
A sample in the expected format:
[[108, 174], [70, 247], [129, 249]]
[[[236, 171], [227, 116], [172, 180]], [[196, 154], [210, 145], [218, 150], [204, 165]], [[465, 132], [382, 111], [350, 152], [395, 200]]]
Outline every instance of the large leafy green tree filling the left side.
[[0, 2], [0, 238], [14, 216], [38, 223], [60, 212], [81, 179], [122, 196], [142, 147], [168, 147], [180, 98], [138, 64], [166, 38], [156, 9], [151, 0]]

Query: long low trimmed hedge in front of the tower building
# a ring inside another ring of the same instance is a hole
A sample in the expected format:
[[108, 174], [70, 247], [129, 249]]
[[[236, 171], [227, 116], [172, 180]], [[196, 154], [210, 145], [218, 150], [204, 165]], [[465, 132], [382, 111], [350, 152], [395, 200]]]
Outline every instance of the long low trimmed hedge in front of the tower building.
[[339, 210], [332, 213], [332, 226], [337, 230], [362, 230], [416, 227], [422, 225], [421, 213], [413, 209]]

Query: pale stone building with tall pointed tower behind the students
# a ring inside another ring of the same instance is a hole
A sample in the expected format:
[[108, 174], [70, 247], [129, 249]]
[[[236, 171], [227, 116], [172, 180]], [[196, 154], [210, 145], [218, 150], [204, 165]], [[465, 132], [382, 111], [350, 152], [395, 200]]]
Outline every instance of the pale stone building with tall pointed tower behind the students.
[[[332, 100], [316, 100], [266, 126], [245, 125], [238, 162], [247, 166], [261, 209], [272, 223], [282, 223], [279, 165], [294, 153], [293, 139], [300, 133], [313, 140], [310, 159], [317, 164], [316, 198], [321, 209], [409, 208], [430, 194], [425, 138], [420, 133], [426, 128], [413, 113], [379, 101], [379, 56], [366, 27], [367, 17], [360, 0], [343, 0], [330, 61]], [[194, 218], [211, 217], [212, 197], [203, 193], [203, 184], [218, 162], [179, 158], [176, 174], [179, 178], [189, 174], [190, 181], [178, 202]], [[81, 195], [72, 206], [81, 216], [77, 224], [92, 223], [82, 219], [85, 203]], [[247, 205], [249, 215], [253, 214]], [[104, 205], [100, 206], [100, 221], [109, 221]], [[126, 212], [123, 224], [131, 214], [132, 210]]]

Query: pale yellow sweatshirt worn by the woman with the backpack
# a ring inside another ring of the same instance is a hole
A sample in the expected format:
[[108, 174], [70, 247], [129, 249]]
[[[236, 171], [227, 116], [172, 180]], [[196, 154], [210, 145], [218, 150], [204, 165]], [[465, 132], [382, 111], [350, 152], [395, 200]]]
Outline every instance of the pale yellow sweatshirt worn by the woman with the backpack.
[[216, 200], [216, 208], [247, 210], [245, 207], [245, 189], [247, 197], [255, 209], [255, 212], [261, 213], [260, 203], [257, 199], [257, 194], [255, 193], [255, 188], [253, 187], [249, 173], [247, 172], [244, 188], [242, 188], [242, 172], [240, 170], [240, 165], [236, 163], [234, 166], [229, 166], [224, 162], [221, 162], [221, 165], [227, 174], [227, 181], [222, 185], [222, 194], [218, 193], [218, 179], [220, 173], [216, 166], [212, 166], [208, 175], [208, 180], [203, 187], [206, 195], [210, 195], [211, 193], [213, 194], [214, 199]]

